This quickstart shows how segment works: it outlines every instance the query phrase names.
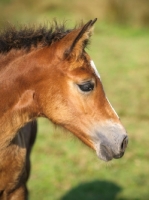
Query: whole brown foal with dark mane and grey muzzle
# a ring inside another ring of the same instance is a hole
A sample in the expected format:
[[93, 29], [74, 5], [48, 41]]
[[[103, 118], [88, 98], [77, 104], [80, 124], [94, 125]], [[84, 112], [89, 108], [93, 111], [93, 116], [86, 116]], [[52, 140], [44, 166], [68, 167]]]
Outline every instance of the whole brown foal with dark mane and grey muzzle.
[[12, 27], [0, 36], [0, 199], [27, 199], [37, 117], [68, 129], [104, 161], [123, 156], [126, 131], [85, 51], [95, 22]]

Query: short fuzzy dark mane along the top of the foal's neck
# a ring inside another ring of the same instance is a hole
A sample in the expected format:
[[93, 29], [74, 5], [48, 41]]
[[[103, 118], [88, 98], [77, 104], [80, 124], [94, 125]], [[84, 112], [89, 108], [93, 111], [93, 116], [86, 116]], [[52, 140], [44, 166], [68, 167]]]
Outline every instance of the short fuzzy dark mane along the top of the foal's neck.
[[50, 27], [20, 27], [9, 25], [7, 29], [0, 33], [0, 53], [7, 53], [11, 49], [25, 49], [29, 51], [31, 47], [37, 45], [48, 46], [53, 42], [62, 39], [72, 29], [65, 28], [65, 25], [58, 25], [55, 21]]

